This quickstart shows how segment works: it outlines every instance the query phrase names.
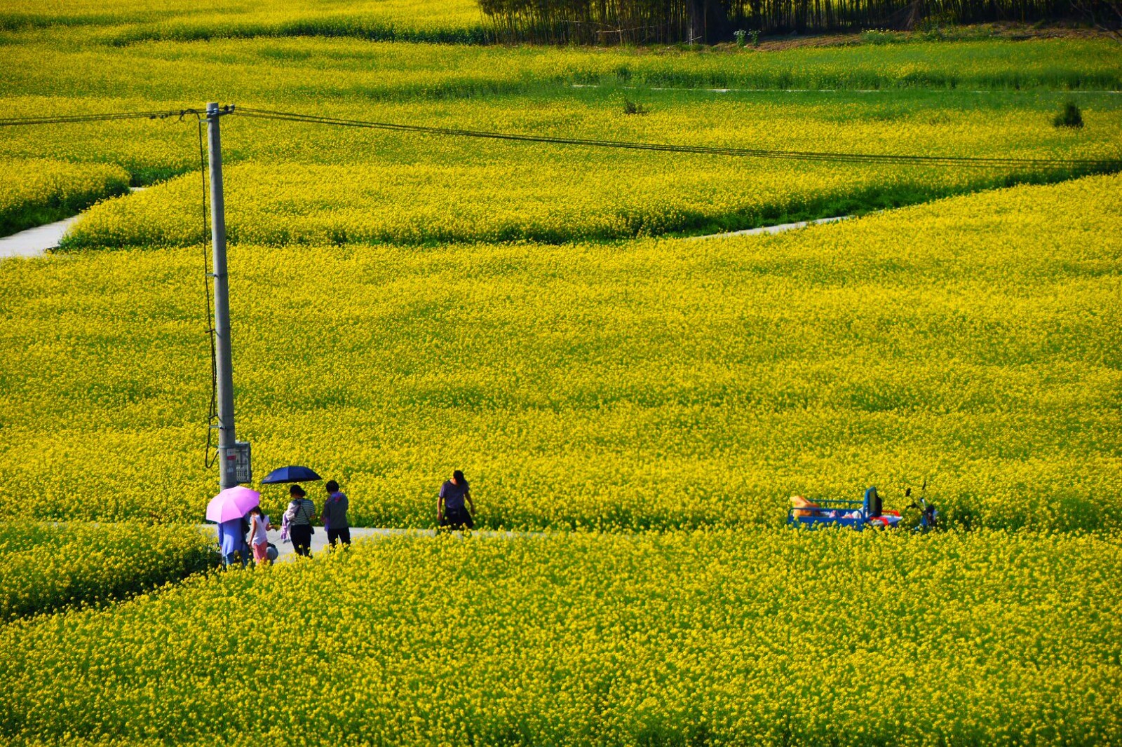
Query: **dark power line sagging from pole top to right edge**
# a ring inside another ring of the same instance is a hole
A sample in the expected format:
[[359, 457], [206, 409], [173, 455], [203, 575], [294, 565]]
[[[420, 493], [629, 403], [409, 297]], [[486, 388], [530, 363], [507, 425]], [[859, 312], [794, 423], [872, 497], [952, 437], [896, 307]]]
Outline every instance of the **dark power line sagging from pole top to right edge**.
[[689, 146], [659, 142], [636, 142], [626, 140], [597, 140], [589, 138], [564, 138], [544, 135], [519, 135], [515, 132], [491, 132], [484, 130], [465, 130], [447, 127], [425, 127], [422, 125], [398, 125], [393, 122], [373, 122], [358, 119], [340, 119], [300, 114], [295, 112], [272, 111], [267, 109], [238, 108], [234, 112], [242, 117], [277, 121], [303, 122], [311, 125], [332, 125], [337, 127], [355, 127], [397, 132], [419, 132], [422, 135], [443, 135], [451, 137], [482, 138], [489, 140], [512, 140], [517, 142], [545, 142], [552, 145], [571, 145], [596, 148], [617, 148], [626, 150], [656, 150], [664, 153], [688, 153], [717, 156], [738, 156], [747, 158], [771, 158], [781, 160], [804, 160], [849, 164], [909, 164], [919, 166], [965, 166], [972, 168], [1010, 168], [1010, 167], [1050, 167], [1075, 169], [1113, 169], [1122, 168], [1122, 159], [1096, 158], [1011, 158], [983, 156], [921, 156], [894, 154], [861, 154], [828, 153], [813, 150], [778, 150], [772, 148], [729, 148], [718, 146]]

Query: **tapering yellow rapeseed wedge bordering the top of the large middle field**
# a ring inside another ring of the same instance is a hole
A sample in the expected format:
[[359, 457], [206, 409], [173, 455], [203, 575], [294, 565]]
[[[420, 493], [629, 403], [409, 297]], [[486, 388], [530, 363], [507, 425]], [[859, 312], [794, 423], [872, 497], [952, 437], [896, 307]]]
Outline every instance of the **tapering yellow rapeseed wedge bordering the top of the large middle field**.
[[[590, 160], [585, 156], [585, 159]], [[784, 223], [1000, 184], [1002, 174], [936, 168], [721, 163], [663, 157], [550, 165], [245, 165], [227, 172], [232, 243], [572, 241]], [[715, 177], [714, 172], [723, 173]], [[1010, 169], [1008, 173], [1012, 173]], [[199, 176], [99, 205], [66, 248], [197, 243]]]

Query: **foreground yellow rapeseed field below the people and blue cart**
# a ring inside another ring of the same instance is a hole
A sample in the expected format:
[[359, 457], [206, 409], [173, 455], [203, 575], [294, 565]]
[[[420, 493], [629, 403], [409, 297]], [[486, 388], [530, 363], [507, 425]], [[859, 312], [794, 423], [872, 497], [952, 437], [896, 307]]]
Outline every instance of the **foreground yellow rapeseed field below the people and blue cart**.
[[8, 626], [0, 738], [1119, 744], [1120, 564], [986, 531], [368, 541]]

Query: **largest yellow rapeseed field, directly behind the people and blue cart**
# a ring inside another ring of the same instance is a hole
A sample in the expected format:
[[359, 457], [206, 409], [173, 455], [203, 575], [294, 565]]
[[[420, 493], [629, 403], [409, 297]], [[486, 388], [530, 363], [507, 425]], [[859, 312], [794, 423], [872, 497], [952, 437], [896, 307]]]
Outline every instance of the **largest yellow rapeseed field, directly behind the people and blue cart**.
[[[775, 237], [236, 245], [238, 433], [368, 525], [431, 526], [460, 468], [495, 527], [778, 524], [925, 478], [954, 524], [1116, 526], [1120, 184]], [[15, 507], [202, 515], [203, 271], [197, 247], [0, 264]]]

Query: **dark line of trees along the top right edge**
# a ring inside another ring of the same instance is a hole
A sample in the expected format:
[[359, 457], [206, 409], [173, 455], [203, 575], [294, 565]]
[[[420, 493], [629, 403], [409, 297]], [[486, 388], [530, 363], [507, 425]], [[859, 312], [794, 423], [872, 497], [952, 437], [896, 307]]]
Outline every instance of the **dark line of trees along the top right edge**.
[[[1119, 0], [479, 0], [503, 42], [714, 44], [760, 34], [911, 29], [1074, 15], [1110, 18]], [[1078, 4], [1078, 7], [1077, 7]], [[1086, 6], [1086, 8], [1083, 8]]]

